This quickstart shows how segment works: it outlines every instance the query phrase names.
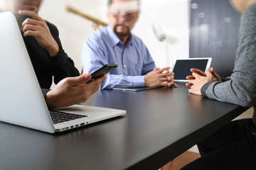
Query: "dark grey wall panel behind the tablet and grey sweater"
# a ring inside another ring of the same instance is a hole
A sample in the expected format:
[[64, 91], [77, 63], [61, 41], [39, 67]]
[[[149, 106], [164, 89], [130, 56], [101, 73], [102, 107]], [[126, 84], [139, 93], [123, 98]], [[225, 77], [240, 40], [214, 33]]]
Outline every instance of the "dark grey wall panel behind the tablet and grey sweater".
[[238, 47], [240, 13], [228, 0], [192, 0], [190, 57], [212, 57], [211, 67], [220, 77], [233, 71]]

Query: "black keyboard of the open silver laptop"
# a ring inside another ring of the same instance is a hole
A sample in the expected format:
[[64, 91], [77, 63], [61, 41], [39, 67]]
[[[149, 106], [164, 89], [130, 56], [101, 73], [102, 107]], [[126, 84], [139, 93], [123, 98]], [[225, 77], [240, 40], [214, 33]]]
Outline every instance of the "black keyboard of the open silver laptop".
[[50, 117], [53, 120], [53, 124], [63, 123], [70, 120], [75, 120], [78, 118], [85, 118], [87, 115], [78, 115], [73, 113], [67, 112], [60, 112], [60, 111], [50, 111]]

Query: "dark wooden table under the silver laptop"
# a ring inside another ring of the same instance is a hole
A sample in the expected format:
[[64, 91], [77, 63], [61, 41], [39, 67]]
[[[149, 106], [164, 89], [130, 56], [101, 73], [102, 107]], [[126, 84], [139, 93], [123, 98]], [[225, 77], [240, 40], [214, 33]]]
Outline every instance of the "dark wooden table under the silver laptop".
[[98, 91], [84, 105], [120, 116], [48, 134], [0, 123], [0, 169], [159, 169], [247, 110], [188, 88]]

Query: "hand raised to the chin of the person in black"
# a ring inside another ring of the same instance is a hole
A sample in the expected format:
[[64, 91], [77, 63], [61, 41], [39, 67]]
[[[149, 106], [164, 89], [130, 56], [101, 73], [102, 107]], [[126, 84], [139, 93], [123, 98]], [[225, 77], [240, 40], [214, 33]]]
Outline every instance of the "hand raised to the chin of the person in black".
[[22, 23], [23, 36], [32, 36], [36, 38], [38, 44], [44, 49], [48, 50], [51, 57], [58, 55], [60, 47], [54, 40], [50, 33], [50, 30], [38, 13], [34, 11], [18, 11], [19, 14], [23, 16], [31, 16], [32, 18], [26, 18]]

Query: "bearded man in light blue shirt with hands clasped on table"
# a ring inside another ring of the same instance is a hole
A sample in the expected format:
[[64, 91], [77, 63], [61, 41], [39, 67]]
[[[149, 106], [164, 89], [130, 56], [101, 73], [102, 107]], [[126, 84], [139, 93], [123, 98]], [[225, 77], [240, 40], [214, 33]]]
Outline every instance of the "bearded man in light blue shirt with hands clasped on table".
[[109, 1], [110, 26], [89, 35], [82, 47], [83, 72], [93, 72], [104, 64], [118, 64], [107, 75], [101, 89], [135, 86], [176, 86], [170, 67], [156, 68], [149, 50], [130, 33], [139, 16], [139, 0]]

